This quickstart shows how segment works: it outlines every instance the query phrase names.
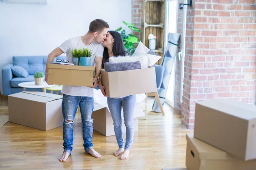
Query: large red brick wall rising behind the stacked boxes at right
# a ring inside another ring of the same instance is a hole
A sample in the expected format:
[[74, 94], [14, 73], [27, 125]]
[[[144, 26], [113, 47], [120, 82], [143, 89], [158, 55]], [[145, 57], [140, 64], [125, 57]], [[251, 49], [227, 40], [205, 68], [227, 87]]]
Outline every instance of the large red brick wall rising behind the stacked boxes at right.
[[193, 129], [199, 100], [255, 103], [256, 5], [195, 0], [187, 12], [182, 123]]

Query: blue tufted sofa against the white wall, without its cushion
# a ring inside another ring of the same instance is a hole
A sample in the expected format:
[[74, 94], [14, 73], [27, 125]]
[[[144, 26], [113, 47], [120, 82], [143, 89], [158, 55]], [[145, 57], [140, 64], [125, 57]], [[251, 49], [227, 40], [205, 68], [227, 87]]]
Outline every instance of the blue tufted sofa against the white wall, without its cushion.
[[[66, 56], [58, 56], [56, 59], [66, 59]], [[45, 67], [47, 62], [47, 56], [14, 56], [12, 57], [12, 64], [7, 64], [2, 68], [2, 83], [3, 83], [3, 95], [14, 94], [22, 91], [22, 88], [18, 86], [21, 82], [35, 81], [34, 74], [37, 71], [45, 73]], [[14, 65], [21, 66], [28, 71], [29, 76], [15, 77], [12, 74], [11, 67]], [[41, 91], [41, 89], [29, 89], [26, 91]]]

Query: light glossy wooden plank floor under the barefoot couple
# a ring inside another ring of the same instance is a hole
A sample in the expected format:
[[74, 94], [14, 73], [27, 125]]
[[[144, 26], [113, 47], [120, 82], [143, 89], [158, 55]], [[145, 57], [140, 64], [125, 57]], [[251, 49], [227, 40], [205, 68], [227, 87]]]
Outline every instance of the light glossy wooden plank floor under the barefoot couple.
[[[153, 98], [149, 99], [152, 103]], [[151, 106], [148, 107], [148, 109]], [[118, 148], [115, 136], [105, 137], [93, 131], [93, 148], [102, 157], [84, 153], [80, 115], [74, 123], [72, 156], [58, 161], [63, 152], [62, 127], [49, 131], [8, 122], [0, 128], [0, 169], [4, 170], [161, 170], [185, 167], [186, 133], [193, 133], [181, 125], [181, 115], [169, 105], [165, 116], [150, 112], [147, 120], [139, 120], [139, 132], [128, 160], [112, 155]], [[8, 115], [7, 99], [0, 101], [0, 115]]]

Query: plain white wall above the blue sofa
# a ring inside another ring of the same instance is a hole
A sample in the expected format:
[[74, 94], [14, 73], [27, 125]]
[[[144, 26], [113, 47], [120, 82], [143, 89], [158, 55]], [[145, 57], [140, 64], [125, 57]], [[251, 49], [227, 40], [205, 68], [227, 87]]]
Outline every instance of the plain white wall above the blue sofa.
[[115, 30], [131, 23], [131, 0], [47, 0], [47, 5], [0, 2], [0, 90], [2, 68], [12, 56], [48, 55], [70, 37], [86, 34], [94, 19]]

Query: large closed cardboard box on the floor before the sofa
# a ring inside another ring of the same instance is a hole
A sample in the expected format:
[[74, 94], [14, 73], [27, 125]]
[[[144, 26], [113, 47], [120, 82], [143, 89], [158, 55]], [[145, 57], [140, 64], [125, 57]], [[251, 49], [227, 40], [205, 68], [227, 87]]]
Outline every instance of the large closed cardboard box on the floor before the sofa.
[[62, 96], [23, 91], [8, 96], [9, 122], [40, 130], [63, 125]]

